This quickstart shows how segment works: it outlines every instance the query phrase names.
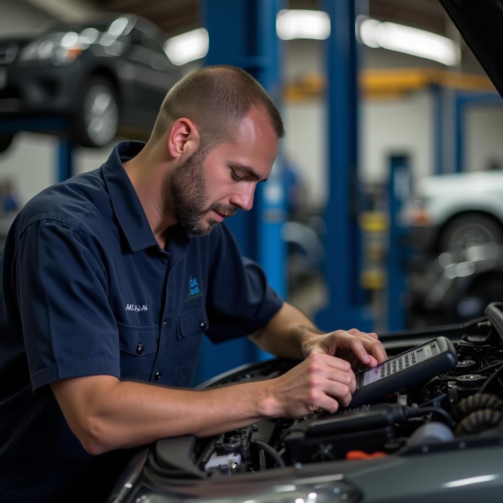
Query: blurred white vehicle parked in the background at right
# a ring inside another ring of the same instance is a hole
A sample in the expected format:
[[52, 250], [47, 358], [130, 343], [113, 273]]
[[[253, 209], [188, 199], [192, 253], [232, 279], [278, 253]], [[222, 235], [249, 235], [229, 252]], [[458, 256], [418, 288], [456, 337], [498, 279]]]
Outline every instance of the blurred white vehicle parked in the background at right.
[[503, 243], [503, 171], [422, 179], [402, 223], [421, 250], [461, 255], [470, 246]]

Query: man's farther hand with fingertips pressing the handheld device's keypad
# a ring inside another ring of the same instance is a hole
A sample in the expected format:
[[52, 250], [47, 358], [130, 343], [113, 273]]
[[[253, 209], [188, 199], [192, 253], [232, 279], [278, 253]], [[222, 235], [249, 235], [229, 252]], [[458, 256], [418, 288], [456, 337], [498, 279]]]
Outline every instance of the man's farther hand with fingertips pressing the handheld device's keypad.
[[305, 357], [315, 354], [337, 356], [349, 362], [354, 371], [375, 367], [388, 359], [377, 333], [361, 332], [356, 328], [321, 334], [307, 330], [302, 352]]

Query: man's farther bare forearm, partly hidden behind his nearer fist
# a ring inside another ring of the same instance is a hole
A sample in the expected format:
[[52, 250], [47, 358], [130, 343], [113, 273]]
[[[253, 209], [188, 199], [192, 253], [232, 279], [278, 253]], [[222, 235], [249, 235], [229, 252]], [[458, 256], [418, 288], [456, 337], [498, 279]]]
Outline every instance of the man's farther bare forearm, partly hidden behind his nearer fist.
[[285, 302], [263, 330], [251, 334], [249, 339], [273, 355], [302, 360], [308, 334], [323, 333], [297, 308]]

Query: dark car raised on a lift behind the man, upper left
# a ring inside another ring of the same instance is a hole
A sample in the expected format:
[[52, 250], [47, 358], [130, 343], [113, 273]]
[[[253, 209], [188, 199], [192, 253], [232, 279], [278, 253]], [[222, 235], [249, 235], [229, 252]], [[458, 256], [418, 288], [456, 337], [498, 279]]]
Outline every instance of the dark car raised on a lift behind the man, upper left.
[[98, 147], [118, 133], [145, 137], [166, 92], [181, 78], [155, 24], [131, 14], [99, 15], [0, 40], [0, 151], [23, 124], [56, 129], [64, 120], [78, 145]]

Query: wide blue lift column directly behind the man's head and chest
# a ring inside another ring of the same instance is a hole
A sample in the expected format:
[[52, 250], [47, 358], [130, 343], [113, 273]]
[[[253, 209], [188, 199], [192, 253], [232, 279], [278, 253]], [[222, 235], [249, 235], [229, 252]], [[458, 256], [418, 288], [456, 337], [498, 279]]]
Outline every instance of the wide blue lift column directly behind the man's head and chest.
[[[279, 106], [281, 96], [280, 41], [276, 15], [282, 0], [206, 0], [203, 23], [209, 33], [206, 64], [230, 64], [253, 75]], [[285, 196], [281, 184], [281, 162], [277, 161], [266, 184], [255, 193], [254, 208], [238, 211], [227, 225], [243, 255], [258, 261], [271, 286], [286, 294], [286, 245], [281, 239], [285, 220]], [[243, 334], [246, 328], [243, 327]], [[266, 358], [247, 339], [212, 345], [204, 340], [194, 384], [249, 361]]]

